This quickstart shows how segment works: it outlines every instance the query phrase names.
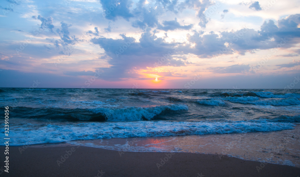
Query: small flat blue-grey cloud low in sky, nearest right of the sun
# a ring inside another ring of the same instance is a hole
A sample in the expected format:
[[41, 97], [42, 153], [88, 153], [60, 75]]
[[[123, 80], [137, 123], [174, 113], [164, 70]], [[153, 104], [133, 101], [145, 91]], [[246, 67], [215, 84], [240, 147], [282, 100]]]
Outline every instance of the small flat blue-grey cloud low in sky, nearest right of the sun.
[[250, 66], [249, 65], [231, 65], [227, 67], [210, 67], [211, 72], [213, 73], [220, 73], [220, 74], [225, 74], [225, 73], [246, 73], [249, 72]]

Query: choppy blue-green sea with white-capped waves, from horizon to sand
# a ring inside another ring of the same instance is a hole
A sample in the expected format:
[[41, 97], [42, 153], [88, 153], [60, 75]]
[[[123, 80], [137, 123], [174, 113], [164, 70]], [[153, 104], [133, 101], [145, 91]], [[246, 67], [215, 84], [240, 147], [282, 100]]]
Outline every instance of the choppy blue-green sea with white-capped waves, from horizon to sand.
[[10, 146], [274, 132], [300, 123], [299, 89], [1, 88], [0, 105], [9, 106]]

